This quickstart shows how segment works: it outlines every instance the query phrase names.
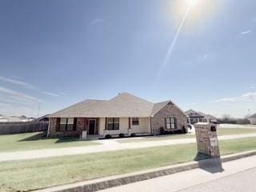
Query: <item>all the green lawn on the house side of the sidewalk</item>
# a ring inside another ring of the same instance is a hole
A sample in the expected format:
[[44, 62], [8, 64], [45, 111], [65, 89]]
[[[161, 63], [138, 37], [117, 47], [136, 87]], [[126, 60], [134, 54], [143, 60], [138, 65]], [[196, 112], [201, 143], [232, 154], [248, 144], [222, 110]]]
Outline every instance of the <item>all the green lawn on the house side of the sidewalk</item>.
[[[256, 133], [256, 129], [246, 128], [219, 128], [218, 135], [227, 134], [251, 134]], [[145, 137], [139, 139], [120, 140], [118, 142], [148, 142], [158, 141], [162, 139], [179, 139], [179, 138], [194, 138], [191, 134], [172, 134], [158, 137]], [[0, 152], [10, 152], [18, 150], [40, 150], [58, 147], [70, 146], [91, 146], [99, 145], [98, 142], [81, 141], [78, 138], [46, 138], [42, 132], [27, 133], [27, 134], [8, 134], [0, 135]]]

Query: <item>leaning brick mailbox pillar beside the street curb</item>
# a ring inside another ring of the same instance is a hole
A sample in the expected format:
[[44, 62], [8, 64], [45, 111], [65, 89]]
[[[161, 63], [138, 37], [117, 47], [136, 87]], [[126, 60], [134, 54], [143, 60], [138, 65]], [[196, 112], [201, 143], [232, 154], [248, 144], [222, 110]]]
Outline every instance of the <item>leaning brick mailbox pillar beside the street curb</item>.
[[209, 122], [194, 124], [198, 143], [198, 152], [209, 155], [212, 158], [220, 158], [218, 148], [217, 126]]

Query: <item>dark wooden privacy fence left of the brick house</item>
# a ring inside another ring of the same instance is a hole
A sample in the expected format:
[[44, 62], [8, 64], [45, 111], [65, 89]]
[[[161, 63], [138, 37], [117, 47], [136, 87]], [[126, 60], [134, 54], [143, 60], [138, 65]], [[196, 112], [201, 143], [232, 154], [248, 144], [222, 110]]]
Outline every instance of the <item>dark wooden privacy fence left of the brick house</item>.
[[46, 131], [48, 122], [0, 122], [0, 134]]

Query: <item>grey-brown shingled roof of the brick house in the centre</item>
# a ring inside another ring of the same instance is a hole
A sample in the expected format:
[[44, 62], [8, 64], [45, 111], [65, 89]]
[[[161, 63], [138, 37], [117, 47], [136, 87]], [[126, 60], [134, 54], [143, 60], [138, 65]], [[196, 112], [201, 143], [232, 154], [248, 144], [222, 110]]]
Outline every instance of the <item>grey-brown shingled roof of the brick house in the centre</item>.
[[[50, 114], [52, 118], [102, 118], [102, 117], [138, 117], [146, 118], [154, 115], [166, 106], [170, 101], [166, 102], [148, 102], [145, 99], [138, 98], [132, 94], [122, 93], [118, 96], [105, 100], [87, 99], [78, 102], [66, 109], [59, 110], [54, 114]], [[172, 102], [171, 102], [172, 103]], [[182, 110], [181, 110], [182, 111]]]

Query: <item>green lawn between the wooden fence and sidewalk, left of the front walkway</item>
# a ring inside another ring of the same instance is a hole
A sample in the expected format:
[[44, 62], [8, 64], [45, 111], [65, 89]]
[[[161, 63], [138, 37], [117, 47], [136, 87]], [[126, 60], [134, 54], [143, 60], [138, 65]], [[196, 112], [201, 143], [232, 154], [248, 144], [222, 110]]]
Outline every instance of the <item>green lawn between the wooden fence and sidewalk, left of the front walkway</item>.
[[0, 152], [99, 145], [97, 142], [81, 141], [78, 138], [46, 138], [45, 136], [43, 132], [0, 135]]

